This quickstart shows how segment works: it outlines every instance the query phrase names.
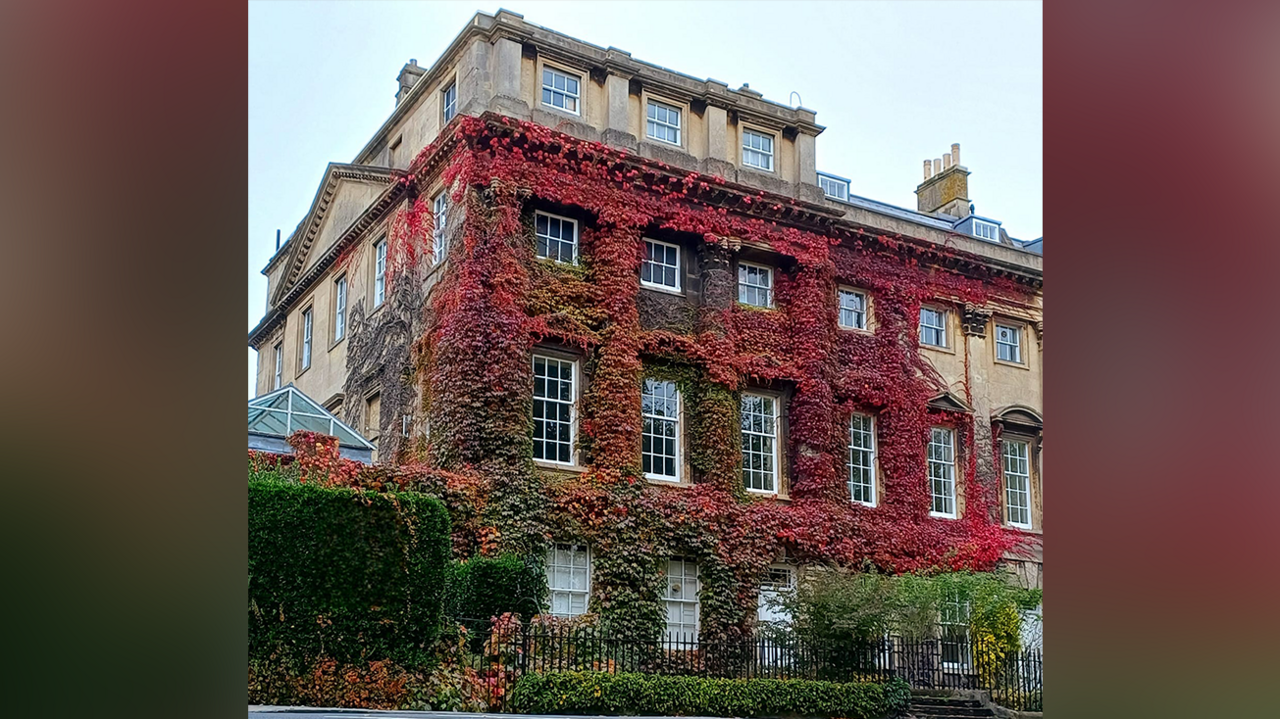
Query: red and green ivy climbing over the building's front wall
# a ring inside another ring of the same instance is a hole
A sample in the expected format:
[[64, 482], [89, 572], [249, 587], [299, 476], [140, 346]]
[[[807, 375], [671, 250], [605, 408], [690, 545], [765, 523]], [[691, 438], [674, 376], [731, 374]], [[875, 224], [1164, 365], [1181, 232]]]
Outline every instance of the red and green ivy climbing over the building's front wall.
[[[417, 459], [481, 477], [479, 509], [456, 527], [476, 537], [476, 551], [540, 557], [553, 541], [590, 544], [591, 608], [640, 636], [662, 631], [666, 558], [694, 557], [701, 632], [714, 637], [750, 631], [756, 586], [783, 551], [891, 572], [982, 571], [1020, 541], [993, 518], [995, 481], [977, 476], [972, 417], [928, 407], [941, 386], [915, 326], [922, 301], [1025, 302], [1030, 288], [943, 248], [824, 225], [794, 201], [536, 124], [460, 118], [411, 171], [440, 164], [442, 154], [465, 217], [416, 344], [430, 426]], [[415, 200], [392, 235], [392, 273], [429, 255], [425, 205]], [[535, 258], [535, 207], [582, 220], [579, 266]], [[681, 241], [695, 262], [684, 299], [639, 287], [641, 237], [653, 233]], [[742, 252], [768, 253], [776, 308], [736, 304]], [[874, 333], [837, 330], [837, 283], [872, 293]], [[530, 353], [540, 345], [581, 357], [582, 472], [532, 461]], [[653, 375], [682, 391], [690, 486], [640, 473], [640, 391]], [[786, 500], [742, 489], [739, 395], [751, 386], [788, 397]], [[845, 484], [855, 409], [877, 420], [876, 508], [851, 503]], [[965, 509], [954, 521], [928, 512], [934, 425], [957, 430]]]

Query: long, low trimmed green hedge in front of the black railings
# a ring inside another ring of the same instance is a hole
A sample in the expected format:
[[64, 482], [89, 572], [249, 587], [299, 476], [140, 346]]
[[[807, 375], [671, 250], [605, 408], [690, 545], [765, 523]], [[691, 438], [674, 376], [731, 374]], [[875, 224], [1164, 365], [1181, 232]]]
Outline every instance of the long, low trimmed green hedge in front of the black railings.
[[522, 714], [879, 719], [906, 709], [910, 696], [901, 679], [876, 684], [557, 672], [521, 677], [511, 707]]

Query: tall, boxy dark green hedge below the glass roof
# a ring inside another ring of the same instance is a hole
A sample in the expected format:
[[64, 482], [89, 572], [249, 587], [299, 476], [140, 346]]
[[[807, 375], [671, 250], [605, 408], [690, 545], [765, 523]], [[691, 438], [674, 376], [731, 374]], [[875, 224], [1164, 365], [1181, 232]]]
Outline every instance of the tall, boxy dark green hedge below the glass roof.
[[250, 660], [424, 665], [448, 562], [434, 498], [250, 480]]

